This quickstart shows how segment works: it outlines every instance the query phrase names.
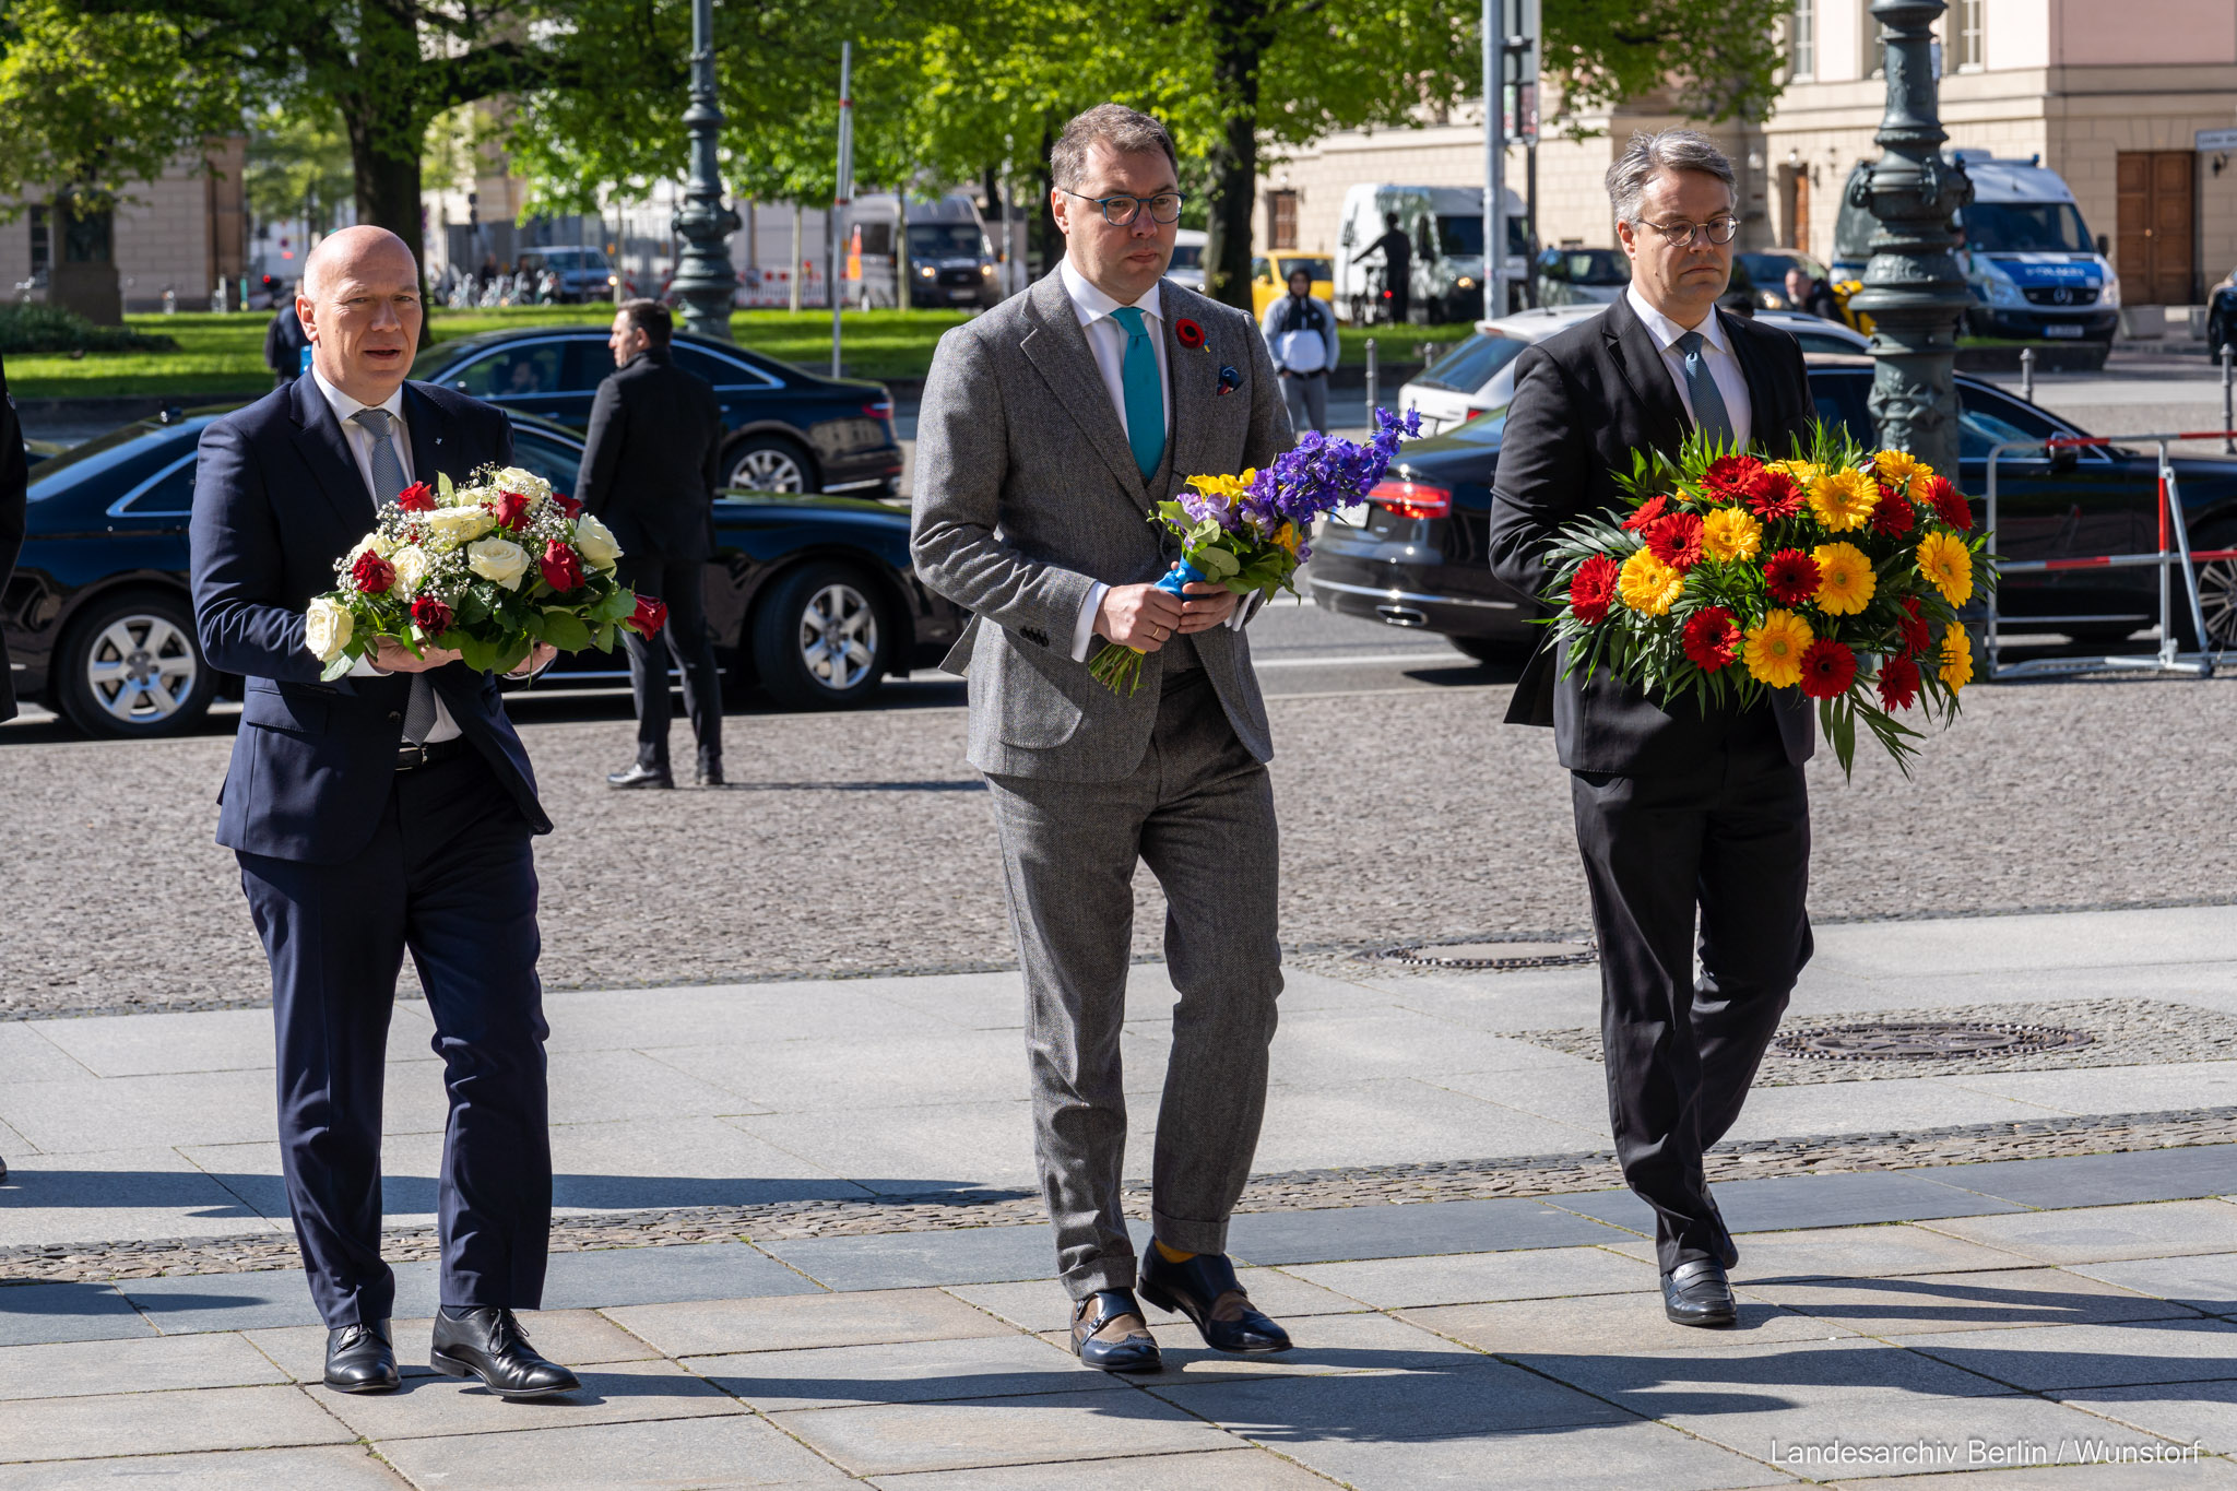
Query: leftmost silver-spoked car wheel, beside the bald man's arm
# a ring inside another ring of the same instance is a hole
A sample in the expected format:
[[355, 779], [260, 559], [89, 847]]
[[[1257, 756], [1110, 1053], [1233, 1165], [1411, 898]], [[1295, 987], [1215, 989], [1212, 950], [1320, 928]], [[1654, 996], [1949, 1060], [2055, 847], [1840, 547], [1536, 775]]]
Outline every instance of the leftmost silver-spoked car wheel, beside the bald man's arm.
[[210, 711], [217, 668], [186, 597], [136, 590], [94, 601], [56, 650], [56, 702], [87, 735], [177, 735]]

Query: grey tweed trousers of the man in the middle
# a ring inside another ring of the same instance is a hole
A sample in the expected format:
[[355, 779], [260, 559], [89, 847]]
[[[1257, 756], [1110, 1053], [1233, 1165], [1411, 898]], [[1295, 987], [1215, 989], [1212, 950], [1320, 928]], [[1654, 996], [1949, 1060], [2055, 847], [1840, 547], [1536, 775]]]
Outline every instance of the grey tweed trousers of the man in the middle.
[[1058, 1270], [1072, 1299], [1130, 1290], [1118, 1037], [1134, 865], [1150, 865], [1165, 892], [1165, 963], [1181, 995], [1150, 1162], [1152, 1225], [1172, 1247], [1226, 1252], [1266, 1113], [1282, 993], [1273, 782], [1197, 671], [1168, 680], [1132, 776], [989, 776], [987, 787], [1025, 963], [1033, 1158]]

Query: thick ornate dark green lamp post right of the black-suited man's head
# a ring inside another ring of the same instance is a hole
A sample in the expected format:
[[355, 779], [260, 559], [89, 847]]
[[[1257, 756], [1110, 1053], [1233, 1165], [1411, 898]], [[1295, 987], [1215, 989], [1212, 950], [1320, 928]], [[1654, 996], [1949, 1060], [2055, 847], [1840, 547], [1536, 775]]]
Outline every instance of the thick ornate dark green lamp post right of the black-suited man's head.
[[1933, 22], [1944, 0], [1872, 0], [1886, 36], [1888, 112], [1881, 148], [1852, 206], [1879, 221], [1852, 311], [1872, 317], [1872, 420], [1879, 445], [1957, 474], [1957, 324], [1971, 304], [1951, 215], [1973, 201], [1962, 163], [1942, 159]]

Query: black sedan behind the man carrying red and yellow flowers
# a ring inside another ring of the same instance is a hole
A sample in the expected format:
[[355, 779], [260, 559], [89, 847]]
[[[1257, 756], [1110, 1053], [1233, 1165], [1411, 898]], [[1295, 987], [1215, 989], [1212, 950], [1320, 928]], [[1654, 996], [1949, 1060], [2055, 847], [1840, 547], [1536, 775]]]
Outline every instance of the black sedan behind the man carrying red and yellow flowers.
[[[1868, 445], [1872, 362], [1832, 355], [1807, 362], [1819, 418], [1848, 425]], [[1989, 490], [1991, 447], [2085, 434], [1964, 373], [1957, 376], [1957, 485], [1973, 494], [1975, 523], [1984, 507], [1980, 494]], [[1503, 427], [1501, 418], [1483, 418], [1407, 445], [1374, 498], [1353, 510], [1356, 519], [1329, 523], [1313, 541], [1313, 599], [1344, 615], [1443, 633], [1470, 657], [1512, 657], [1535, 646], [1541, 630], [1532, 626], [1535, 601], [1492, 579], [1485, 550]], [[2237, 460], [2177, 458], [2174, 465], [2190, 545], [2237, 548]], [[2022, 447], [1998, 458], [1995, 485], [1995, 550], [2004, 559], [2159, 548], [2159, 456], [2152, 449], [2047, 454]], [[2011, 574], [1998, 595], [2007, 624], [2076, 642], [2118, 642], [2159, 626], [2159, 572], [2150, 568]], [[2208, 646], [2237, 644], [2237, 563], [2201, 566], [2199, 597]], [[2183, 642], [2197, 646], [2181, 610], [2177, 606]]]

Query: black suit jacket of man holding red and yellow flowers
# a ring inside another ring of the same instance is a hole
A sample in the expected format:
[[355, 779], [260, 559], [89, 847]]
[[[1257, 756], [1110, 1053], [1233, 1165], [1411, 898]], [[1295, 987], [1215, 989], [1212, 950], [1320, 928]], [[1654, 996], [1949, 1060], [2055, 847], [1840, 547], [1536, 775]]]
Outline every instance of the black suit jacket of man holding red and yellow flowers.
[[[1801, 344], [1774, 326], [1716, 315], [1747, 378], [1752, 443], [1772, 456], [1792, 454], [1807, 443], [1814, 418]], [[1687, 429], [1678, 384], [1629, 297], [1523, 351], [1492, 478], [1492, 572], [1523, 595], [1541, 595], [1555, 530], [1588, 512], [1622, 510], [1615, 476], [1631, 472], [1631, 452], [1653, 447], [1676, 458]], [[1662, 709], [1606, 673], [1586, 682], [1564, 677], [1564, 666], [1561, 648], [1541, 646], [1514, 686], [1508, 722], [1555, 726], [1555, 749], [1573, 771], [1680, 769], [1720, 747], [1743, 720], [1729, 706]], [[1816, 735], [1807, 704], [1781, 693], [1772, 713], [1787, 760], [1810, 760]]]

